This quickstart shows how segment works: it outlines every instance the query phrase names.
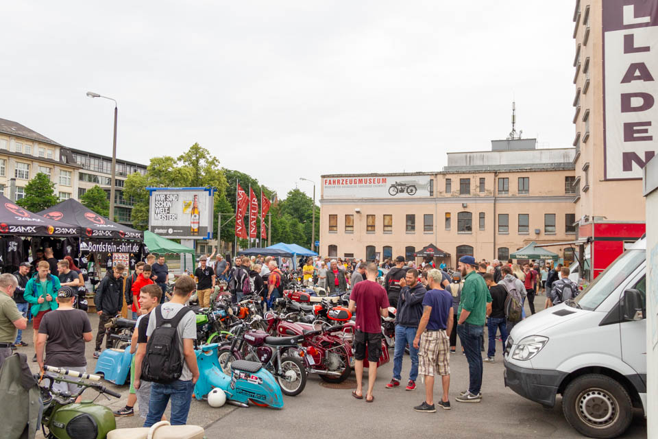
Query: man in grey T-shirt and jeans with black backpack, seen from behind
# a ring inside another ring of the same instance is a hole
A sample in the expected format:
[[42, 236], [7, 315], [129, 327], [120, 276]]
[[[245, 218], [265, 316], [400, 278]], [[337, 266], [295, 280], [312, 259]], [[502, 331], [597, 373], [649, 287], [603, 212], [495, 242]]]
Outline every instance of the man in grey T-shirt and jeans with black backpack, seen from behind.
[[193, 278], [180, 276], [173, 287], [171, 300], [158, 305], [149, 318], [146, 355], [140, 377], [151, 382], [149, 414], [144, 427], [151, 427], [162, 419], [170, 400], [171, 425], [185, 425], [187, 422], [192, 392], [199, 379], [194, 353], [196, 315], [185, 306], [194, 289]]

